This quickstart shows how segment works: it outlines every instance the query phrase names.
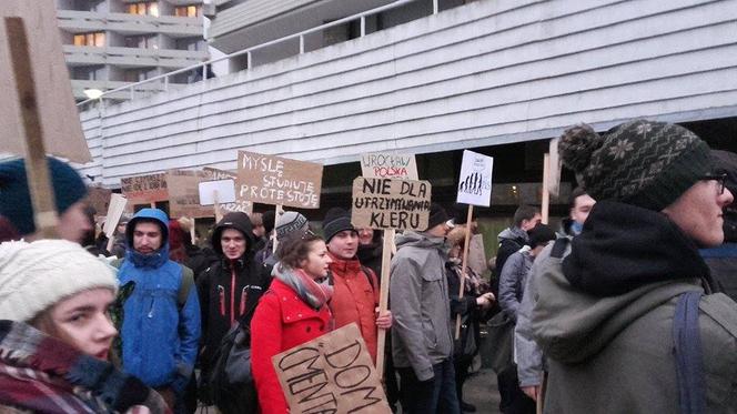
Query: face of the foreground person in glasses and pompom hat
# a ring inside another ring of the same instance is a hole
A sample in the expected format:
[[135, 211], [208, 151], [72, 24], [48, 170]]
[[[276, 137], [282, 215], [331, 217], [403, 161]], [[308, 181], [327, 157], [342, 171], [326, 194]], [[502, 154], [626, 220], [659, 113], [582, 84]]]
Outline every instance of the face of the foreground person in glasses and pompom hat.
[[724, 241], [723, 209], [733, 200], [719, 181], [699, 180], [663, 209], [663, 213], [698, 245], [709, 248]]

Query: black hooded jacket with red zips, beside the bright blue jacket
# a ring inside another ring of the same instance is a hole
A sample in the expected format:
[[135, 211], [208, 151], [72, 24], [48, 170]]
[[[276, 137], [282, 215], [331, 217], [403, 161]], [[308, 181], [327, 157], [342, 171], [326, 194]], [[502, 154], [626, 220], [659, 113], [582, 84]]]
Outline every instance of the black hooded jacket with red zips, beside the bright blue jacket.
[[[220, 238], [226, 229], [238, 230], [245, 238], [245, 252], [239, 259], [230, 260], [223, 253]], [[263, 273], [253, 260], [253, 232], [245, 213], [225, 214], [213, 230], [211, 241], [219, 261], [198, 277], [203, 333], [201, 362], [204, 370], [213, 362], [213, 353], [225, 333], [255, 307], [271, 283], [271, 276]]]

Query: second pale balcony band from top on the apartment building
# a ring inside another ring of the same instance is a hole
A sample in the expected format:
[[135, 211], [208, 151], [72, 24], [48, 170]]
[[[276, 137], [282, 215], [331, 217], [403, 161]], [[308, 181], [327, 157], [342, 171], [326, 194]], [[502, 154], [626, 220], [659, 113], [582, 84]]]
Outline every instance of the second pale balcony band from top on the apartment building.
[[70, 65], [122, 64], [128, 67], [186, 68], [209, 58], [206, 51], [138, 48], [97, 48], [64, 44], [64, 59]]

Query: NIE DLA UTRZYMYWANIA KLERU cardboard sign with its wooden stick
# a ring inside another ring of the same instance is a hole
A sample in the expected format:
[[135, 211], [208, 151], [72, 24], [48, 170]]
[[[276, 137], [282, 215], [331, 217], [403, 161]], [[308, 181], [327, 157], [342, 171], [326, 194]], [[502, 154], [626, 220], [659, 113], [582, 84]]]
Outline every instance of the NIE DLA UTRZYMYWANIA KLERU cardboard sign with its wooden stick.
[[[391, 260], [394, 230], [426, 230], [430, 220], [432, 185], [428, 181], [359, 176], [353, 180], [351, 222], [356, 228], [384, 230], [381, 292], [378, 313], [384, 314], [388, 304], [388, 262]], [[376, 371], [384, 373], [384, 342], [386, 331], [378, 330]]]

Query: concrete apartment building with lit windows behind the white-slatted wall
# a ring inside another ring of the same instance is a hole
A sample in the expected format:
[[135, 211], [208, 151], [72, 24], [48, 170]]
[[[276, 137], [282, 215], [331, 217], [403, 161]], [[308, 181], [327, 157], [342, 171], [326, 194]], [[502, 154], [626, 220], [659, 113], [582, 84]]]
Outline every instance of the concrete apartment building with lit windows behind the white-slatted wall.
[[[57, 18], [77, 100], [88, 99], [85, 90], [117, 89], [209, 59], [202, 0], [57, 0]], [[148, 83], [133, 94], [181, 88], [193, 75]]]

